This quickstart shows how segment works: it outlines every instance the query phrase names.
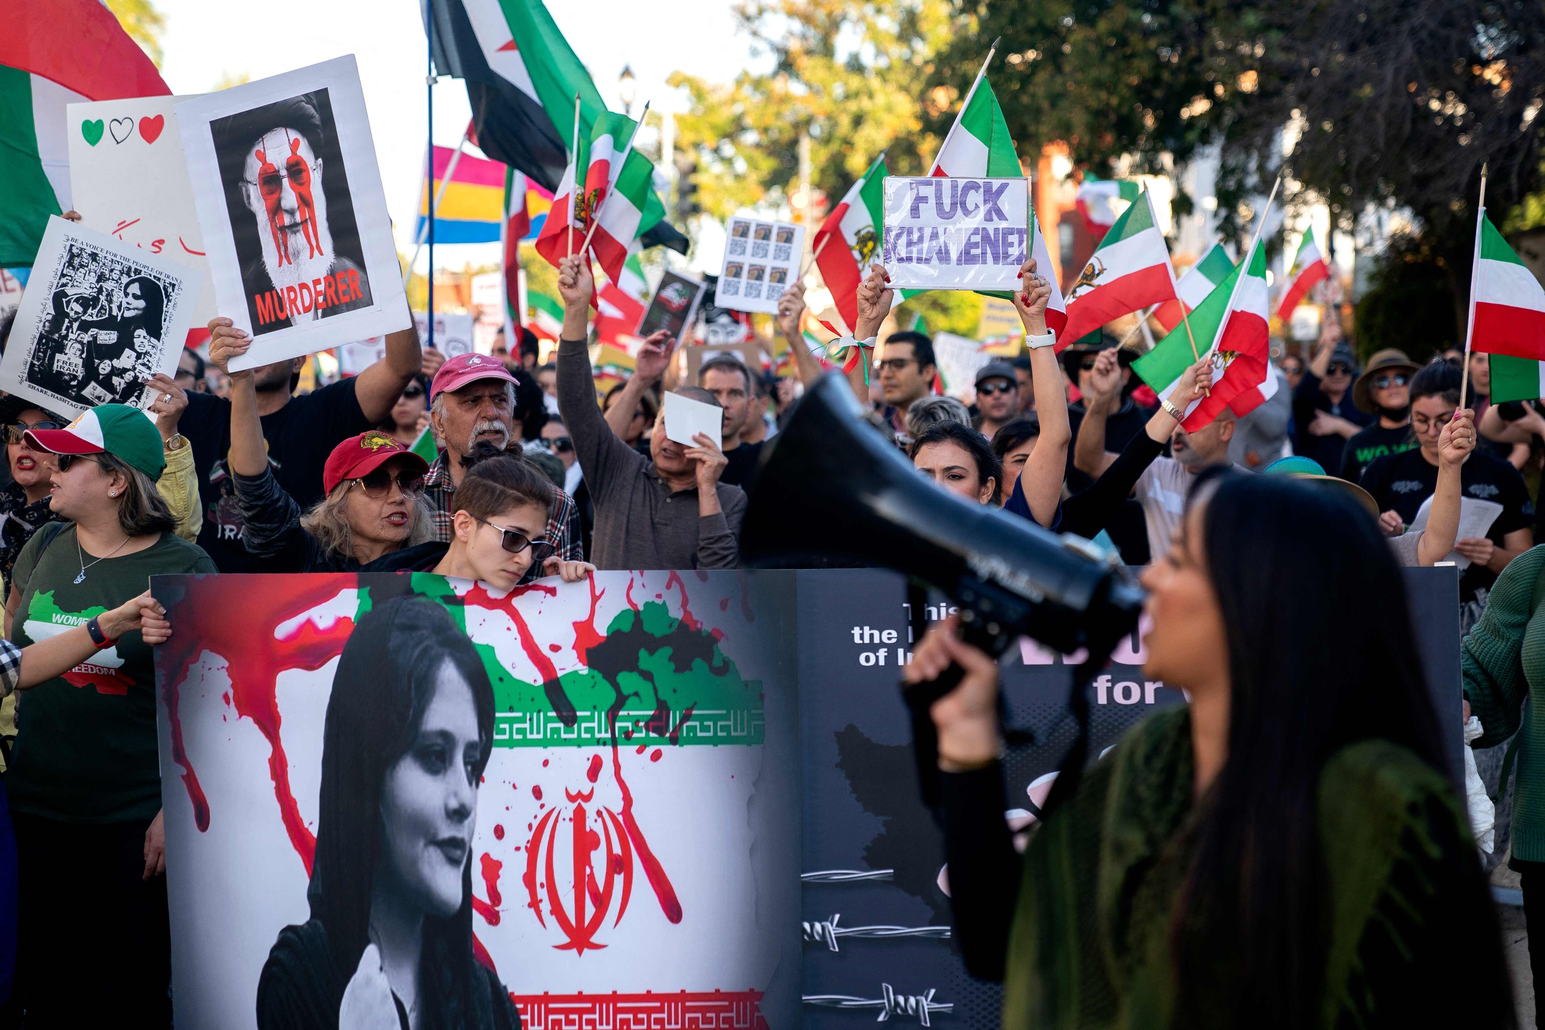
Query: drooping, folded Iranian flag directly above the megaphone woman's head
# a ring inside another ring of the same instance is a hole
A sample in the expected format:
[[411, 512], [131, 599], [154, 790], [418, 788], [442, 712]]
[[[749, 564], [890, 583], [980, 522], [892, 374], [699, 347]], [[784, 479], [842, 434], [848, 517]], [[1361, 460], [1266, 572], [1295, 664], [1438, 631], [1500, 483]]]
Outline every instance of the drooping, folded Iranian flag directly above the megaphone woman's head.
[[[1270, 368], [1268, 313], [1265, 250], [1258, 241], [1250, 259], [1230, 272], [1191, 312], [1197, 346], [1205, 343], [1202, 354], [1213, 357], [1213, 389], [1187, 409], [1180, 423], [1187, 432], [1211, 423], [1225, 405], [1244, 415], [1278, 391], [1279, 380]], [[1176, 380], [1194, 363], [1191, 341], [1180, 326], [1132, 361], [1132, 371], [1156, 394], [1168, 397]]]

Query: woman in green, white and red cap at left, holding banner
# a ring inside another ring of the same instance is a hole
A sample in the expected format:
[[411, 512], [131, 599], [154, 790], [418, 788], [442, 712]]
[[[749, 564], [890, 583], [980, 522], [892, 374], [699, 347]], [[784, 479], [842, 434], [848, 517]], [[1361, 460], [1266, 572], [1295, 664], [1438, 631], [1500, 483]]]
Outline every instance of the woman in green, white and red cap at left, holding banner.
[[[28, 429], [57, 456], [49, 507], [66, 522], [39, 530], [15, 562], [6, 612], [22, 647], [96, 616], [100, 650], [32, 687], [20, 703], [5, 789], [20, 857], [15, 1004], [28, 1024], [108, 1025], [125, 1011], [167, 1025], [170, 928], [156, 673], [141, 632], [102, 627], [151, 576], [213, 573], [156, 490], [165, 451], [138, 408], [102, 405], [63, 429]], [[232, 618], [239, 618], [233, 613]], [[82, 891], [82, 883], [90, 891]], [[111, 956], [93, 988], [60, 954]]]

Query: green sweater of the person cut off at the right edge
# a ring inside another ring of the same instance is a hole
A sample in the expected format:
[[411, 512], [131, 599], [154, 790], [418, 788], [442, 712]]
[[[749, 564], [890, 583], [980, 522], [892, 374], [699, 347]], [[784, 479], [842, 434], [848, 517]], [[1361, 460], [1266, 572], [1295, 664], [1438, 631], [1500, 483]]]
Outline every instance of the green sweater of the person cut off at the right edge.
[[1460, 647], [1465, 695], [1486, 732], [1474, 747], [1519, 735], [1513, 786], [1513, 857], [1545, 862], [1545, 544], [1523, 551], [1497, 576], [1486, 613]]

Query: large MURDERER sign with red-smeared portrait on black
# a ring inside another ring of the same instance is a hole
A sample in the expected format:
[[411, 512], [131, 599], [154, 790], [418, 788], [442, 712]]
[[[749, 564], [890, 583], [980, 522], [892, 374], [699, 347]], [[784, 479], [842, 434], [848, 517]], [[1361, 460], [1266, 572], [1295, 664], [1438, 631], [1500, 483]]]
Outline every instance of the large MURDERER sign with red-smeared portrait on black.
[[215, 300], [252, 334], [233, 371], [406, 329], [354, 57], [176, 107]]

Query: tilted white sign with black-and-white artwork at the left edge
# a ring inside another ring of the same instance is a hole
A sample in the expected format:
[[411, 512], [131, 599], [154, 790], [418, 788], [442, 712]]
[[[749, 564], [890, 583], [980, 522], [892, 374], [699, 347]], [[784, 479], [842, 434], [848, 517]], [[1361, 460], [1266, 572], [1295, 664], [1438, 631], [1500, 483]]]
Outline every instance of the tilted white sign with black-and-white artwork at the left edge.
[[144, 381], [175, 375], [201, 273], [107, 233], [49, 218], [0, 358], [0, 389], [79, 415], [150, 408]]

